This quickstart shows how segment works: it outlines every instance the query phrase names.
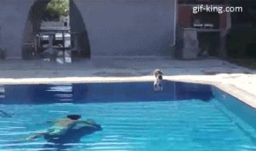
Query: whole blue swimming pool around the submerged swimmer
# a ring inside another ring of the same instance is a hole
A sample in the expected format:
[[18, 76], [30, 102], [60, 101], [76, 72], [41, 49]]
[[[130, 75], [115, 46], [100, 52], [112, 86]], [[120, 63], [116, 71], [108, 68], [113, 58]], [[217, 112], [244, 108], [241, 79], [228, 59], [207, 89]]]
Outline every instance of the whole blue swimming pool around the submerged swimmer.
[[[0, 150], [256, 150], [255, 110], [213, 86], [151, 82], [2, 86]], [[103, 130], [25, 141], [78, 113]]]

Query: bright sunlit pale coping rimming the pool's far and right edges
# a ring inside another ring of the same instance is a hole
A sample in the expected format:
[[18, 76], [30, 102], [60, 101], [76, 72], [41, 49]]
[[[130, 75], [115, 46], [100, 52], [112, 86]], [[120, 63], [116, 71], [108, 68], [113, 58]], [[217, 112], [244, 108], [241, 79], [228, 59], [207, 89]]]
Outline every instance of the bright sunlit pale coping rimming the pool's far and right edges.
[[[164, 79], [173, 82], [190, 82], [216, 86], [231, 96], [239, 99], [248, 106], [256, 109], [256, 96], [230, 83], [207, 81], [202, 79], [180, 79], [177, 76], [166, 75]], [[99, 82], [153, 82], [153, 76], [130, 76], [130, 77], [66, 77], [66, 78], [27, 78], [27, 79], [0, 79], [0, 85], [34, 85], [34, 84], [69, 84], [69, 83], [99, 83]]]

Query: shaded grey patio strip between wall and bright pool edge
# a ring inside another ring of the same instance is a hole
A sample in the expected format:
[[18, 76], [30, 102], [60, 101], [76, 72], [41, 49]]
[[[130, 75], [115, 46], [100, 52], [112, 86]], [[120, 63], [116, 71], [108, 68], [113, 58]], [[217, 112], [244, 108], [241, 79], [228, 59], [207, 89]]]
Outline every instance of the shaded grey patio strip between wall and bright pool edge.
[[224, 62], [221, 59], [192, 61], [169, 58], [93, 58], [71, 64], [42, 60], [5, 60], [0, 62], [0, 78], [60, 78], [60, 77], [127, 77], [152, 75], [162, 69], [165, 75], [214, 75], [215, 73], [255, 73], [254, 70]]

